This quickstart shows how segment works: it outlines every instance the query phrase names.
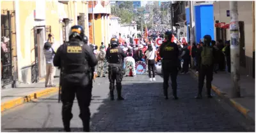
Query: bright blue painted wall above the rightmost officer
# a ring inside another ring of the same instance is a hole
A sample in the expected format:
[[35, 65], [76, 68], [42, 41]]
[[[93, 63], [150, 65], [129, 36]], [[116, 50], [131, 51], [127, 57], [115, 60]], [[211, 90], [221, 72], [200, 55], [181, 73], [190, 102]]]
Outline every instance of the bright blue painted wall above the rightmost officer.
[[214, 20], [212, 4], [195, 6], [195, 37], [198, 43], [205, 34], [214, 38]]

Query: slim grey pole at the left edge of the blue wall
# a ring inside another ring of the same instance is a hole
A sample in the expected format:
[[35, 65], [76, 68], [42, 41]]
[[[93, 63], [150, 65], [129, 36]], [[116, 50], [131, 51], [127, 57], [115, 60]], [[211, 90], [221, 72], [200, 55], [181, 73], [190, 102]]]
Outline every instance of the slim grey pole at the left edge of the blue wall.
[[[195, 42], [195, 22], [194, 22], [194, 1], [189, 1], [189, 16], [190, 16], [190, 48], [192, 52], [192, 44]], [[195, 62], [193, 60], [193, 57], [191, 56], [191, 66], [195, 67]]]

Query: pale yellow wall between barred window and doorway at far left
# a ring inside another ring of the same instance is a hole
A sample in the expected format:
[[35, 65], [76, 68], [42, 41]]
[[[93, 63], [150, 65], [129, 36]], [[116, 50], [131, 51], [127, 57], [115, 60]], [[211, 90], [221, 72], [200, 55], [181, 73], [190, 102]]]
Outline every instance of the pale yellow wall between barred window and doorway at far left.
[[[31, 65], [35, 61], [34, 49], [34, 10], [36, 7], [35, 1], [20, 1], [20, 48], [22, 60], [21, 67]], [[24, 36], [26, 35], [26, 36]]]

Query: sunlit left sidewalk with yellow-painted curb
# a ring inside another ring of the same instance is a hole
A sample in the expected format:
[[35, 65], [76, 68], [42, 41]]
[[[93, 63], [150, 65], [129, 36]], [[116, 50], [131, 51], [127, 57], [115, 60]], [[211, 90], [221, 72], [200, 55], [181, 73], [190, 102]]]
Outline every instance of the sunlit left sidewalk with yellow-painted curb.
[[[45, 88], [45, 80], [40, 80], [38, 83], [21, 83], [17, 88], [1, 90], [1, 111], [13, 108], [14, 106], [26, 102], [24, 98], [28, 97], [29, 95], [34, 95], [33, 98], [36, 98], [40, 97], [40, 95], [52, 93], [52, 91], [55, 91], [56, 88], [58, 88], [58, 84], [59, 78], [54, 78], [54, 85], [56, 85], [56, 87]], [[33, 98], [29, 97], [29, 99]]]

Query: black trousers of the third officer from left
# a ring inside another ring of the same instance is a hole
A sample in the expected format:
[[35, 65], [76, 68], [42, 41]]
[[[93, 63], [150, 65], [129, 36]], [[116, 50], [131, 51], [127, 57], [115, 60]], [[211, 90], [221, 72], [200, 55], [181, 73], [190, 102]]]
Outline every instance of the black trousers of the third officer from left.
[[168, 95], [168, 87], [169, 87], [168, 81], [171, 76], [173, 96], [177, 97], [178, 66], [173, 65], [173, 62], [169, 60], [163, 60], [162, 67], [163, 67], [163, 78], [164, 78], [164, 83], [163, 83], [164, 95]]

